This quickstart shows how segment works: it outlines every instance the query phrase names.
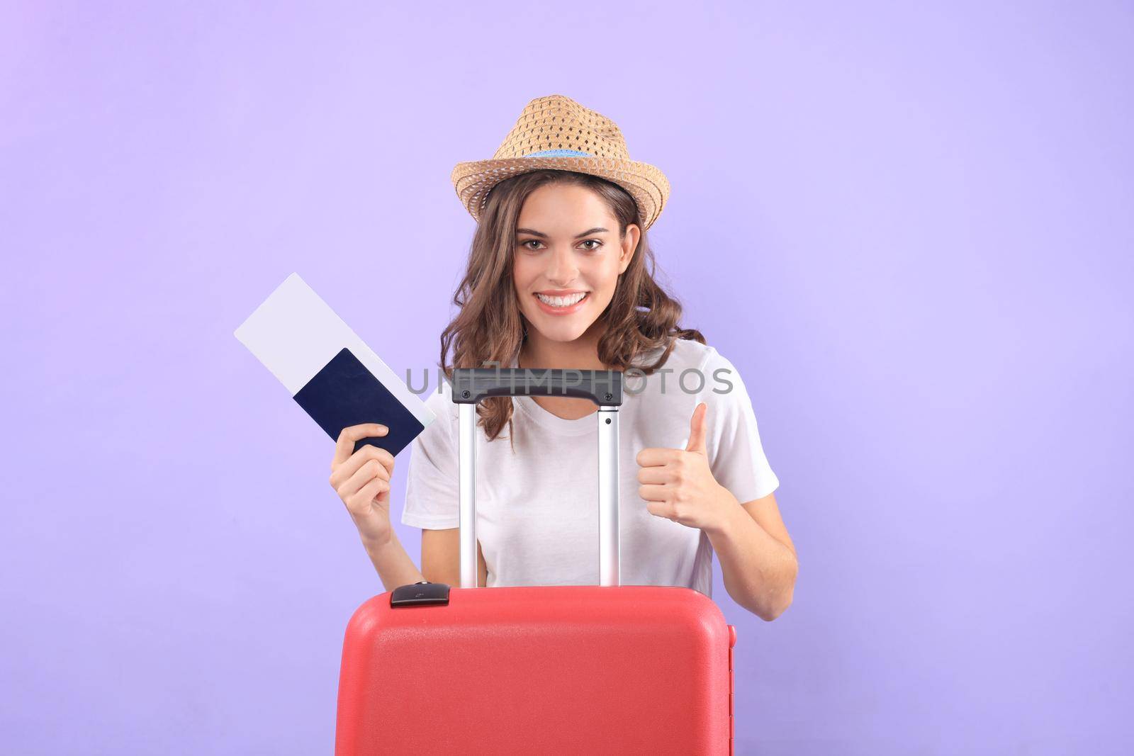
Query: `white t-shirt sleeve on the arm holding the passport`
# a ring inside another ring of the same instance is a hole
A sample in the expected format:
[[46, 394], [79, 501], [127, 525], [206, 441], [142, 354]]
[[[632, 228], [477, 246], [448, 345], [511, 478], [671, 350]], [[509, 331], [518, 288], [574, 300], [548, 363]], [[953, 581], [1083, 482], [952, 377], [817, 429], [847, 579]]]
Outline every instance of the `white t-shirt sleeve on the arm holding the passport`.
[[406, 499], [401, 524], [430, 530], [445, 530], [460, 524], [460, 493], [457, 479], [457, 444], [454, 421], [456, 405], [450, 388], [425, 400], [437, 416], [409, 445], [406, 472]]

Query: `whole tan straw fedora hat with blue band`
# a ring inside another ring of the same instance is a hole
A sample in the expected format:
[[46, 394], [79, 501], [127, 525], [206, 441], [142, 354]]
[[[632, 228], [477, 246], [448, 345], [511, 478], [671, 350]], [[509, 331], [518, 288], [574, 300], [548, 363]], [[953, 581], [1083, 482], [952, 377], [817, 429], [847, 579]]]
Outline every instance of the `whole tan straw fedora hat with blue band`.
[[457, 163], [452, 185], [477, 222], [489, 189], [518, 173], [544, 168], [590, 173], [631, 193], [650, 228], [669, 198], [669, 180], [658, 168], [631, 160], [612, 120], [570, 97], [552, 94], [527, 103], [491, 160]]

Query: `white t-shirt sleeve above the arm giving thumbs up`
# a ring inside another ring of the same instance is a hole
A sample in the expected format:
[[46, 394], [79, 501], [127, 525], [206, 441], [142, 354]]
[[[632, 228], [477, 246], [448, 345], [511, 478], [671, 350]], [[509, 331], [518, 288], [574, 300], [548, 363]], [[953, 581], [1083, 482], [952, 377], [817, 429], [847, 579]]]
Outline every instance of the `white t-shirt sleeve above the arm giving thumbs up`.
[[768, 464], [756, 414], [736, 366], [710, 347], [702, 368], [705, 384], [697, 401], [709, 406], [705, 451], [713, 477], [737, 501], [763, 499], [779, 487]]

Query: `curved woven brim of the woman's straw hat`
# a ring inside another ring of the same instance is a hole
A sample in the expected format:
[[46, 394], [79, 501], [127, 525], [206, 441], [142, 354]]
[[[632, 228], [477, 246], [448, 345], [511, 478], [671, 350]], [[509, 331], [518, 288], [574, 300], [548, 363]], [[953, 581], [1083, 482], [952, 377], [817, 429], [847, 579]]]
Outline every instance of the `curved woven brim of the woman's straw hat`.
[[544, 168], [590, 173], [623, 187], [637, 203], [643, 230], [653, 226], [669, 198], [669, 180], [659, 168], [613, 158], [562, 155], [476, 160], [457, 163], [451, 179], [462, 204], [480, 222], [489, 189], [513, 176]]

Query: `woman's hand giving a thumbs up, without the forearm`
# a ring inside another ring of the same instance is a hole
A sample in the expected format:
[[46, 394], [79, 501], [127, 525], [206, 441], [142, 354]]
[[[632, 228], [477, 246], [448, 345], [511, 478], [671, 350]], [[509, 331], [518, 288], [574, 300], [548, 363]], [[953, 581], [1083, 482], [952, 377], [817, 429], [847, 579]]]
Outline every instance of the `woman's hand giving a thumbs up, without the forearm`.
[[701, 402], [689, 421], [685, 449], [651, 448], [637, 453], [638, 495], [646, 510], [687, 527], [718, 528], [736, 498], [717, 483], [705, 452], [709, 406]]

